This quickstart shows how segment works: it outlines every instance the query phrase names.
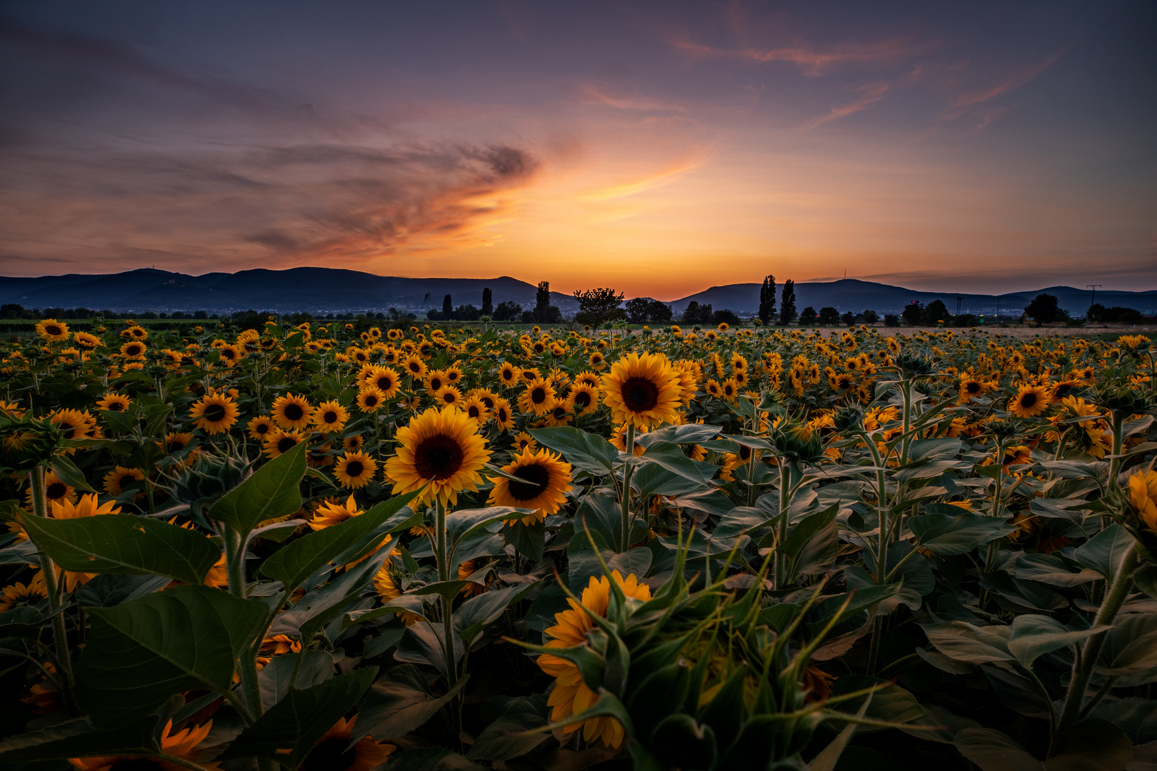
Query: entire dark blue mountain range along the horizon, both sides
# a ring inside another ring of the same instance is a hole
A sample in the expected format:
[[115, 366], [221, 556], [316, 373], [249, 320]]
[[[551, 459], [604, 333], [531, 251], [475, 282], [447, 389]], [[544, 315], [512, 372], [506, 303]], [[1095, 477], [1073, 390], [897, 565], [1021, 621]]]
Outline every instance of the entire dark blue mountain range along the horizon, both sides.
[[[339, 268], [302, 267], [287, 270], [264, 268], [237, 273], [206, 273], [193, 276], [154, 268], [124, 273], [60, 276], [0, 277], [0, 303], [16, 303], [24, 307], [90, 307], [110, 311], [194, 311], [211, 312], [260, 311], [425, 311], [442, 307], [442, 298], [450, 295], [455, 306], [471, 304], [480, 307], [482, 289], [493, 292], [493, 303], [513, 301], [530, 310], [535, 306], [537, 287], [525, 281], [499, 276], [498, 279], [404, 279], [379, 276]], [[703, 291], [669, 303], [678, 317], [688, 303], [710, 304], [714, 310], [730, 309], [740, 316], [759, 310], [758, 283], [736, 283], [712, 287]], [[1002, 316], [1019, 313], [1033, 297], [1041, 292], [1055, 295], [1061, 307], [1074, 316], [1085, 312], [1090, 304], [1088, 289], [1046, 287], [1036, 291], [1004, 295], [978, 295], [919, 291], [890, 284], [843, 279], [840, 281], [805, 282], [795, 284], [796, 310], [809, 305], [817, 311], [833, 306], [840, 312], [874, 310], [896, 313], [913, 301], [930, 303], [942, 301], [956, 312], [959, 297], [961, 313], [992, 314], [1000, 306]], [[780, 301], [782, 283], [778, 287]], [[1157, 309], [1157, 290], [1098, 291], [1096, 299], [1105, 306], [1120, 305], [1151, 313]], [[551, 292], [551, 303], [565, 314], [574, 313], [578, 304], [570, 295]]]

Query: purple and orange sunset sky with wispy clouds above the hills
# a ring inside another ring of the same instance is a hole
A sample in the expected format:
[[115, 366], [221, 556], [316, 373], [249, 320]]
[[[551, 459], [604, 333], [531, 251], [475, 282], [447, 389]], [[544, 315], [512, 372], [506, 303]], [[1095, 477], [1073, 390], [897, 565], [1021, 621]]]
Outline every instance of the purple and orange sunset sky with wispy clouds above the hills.
[[1157, 288], [1157, 3], [0, 2], [0, 275]]

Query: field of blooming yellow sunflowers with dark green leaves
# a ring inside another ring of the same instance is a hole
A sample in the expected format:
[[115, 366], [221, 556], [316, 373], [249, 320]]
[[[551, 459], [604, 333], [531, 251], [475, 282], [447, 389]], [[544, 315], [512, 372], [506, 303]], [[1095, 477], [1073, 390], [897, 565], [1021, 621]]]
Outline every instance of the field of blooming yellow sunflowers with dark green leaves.
[[1150, 340], [52, 319], [5, 769], [1148, 769]]

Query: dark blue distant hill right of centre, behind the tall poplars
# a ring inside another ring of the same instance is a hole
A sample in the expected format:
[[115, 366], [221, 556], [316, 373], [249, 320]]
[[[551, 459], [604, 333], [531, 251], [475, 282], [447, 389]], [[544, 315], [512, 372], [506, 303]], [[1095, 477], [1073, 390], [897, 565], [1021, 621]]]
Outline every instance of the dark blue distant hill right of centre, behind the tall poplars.
[[[676, 314], [683, 312], [691, 301], [700, 305], [710, 303], [715, 310], [723, 307], [731, 309], [736, 313], [756, 313], [759, 311], [759, 288], [758, 283], [735, 283], [722, 287], [712, 287], [701, 292], [683, 297], [671, 303], [671, 309]], [[783, 284], [776, 284], [776, 306], [783, 291]], [[820, 307], [831, 305], [843, 312], [852, 311], [858, 313], [864, 310], [874, 310], [879, 313], [899, 313], [904, 306], [916, 301], [927, 305], [934, 299], [943, 301], [948, 310], [956, 312], [957, 295], [952, 292], [919, 291], [892, 287], [890, 284], [875, 283], [872, 281], [860, 281], [858, 279], [841, 279], [840, 281], [823, 281], [813, 283], [797, 283], [796, 310], [802, 311], [811, 305], [817, 311]], [[1000, 311], [1007, 313], [1019, 312], [1032, 298], [1041, 292], [1055, 295], [1061, 307], [1074, 316], [1084, 314], [1089, 310], [1089, 290], [1076, 289], [1074, 287], [1047, 287], [1034, 291], [1011, 292], [1007, 295], [974, 295], [961, 294], [961, 313], [985, 313], [996, 312], [997, 301]], [[1141, 312], [1152, 312], [1157, 310], [1157, 290], [1149, 291], [1098, 291], [1097, 302], [1106, 307], [1120, 305], [1132, 307]]]

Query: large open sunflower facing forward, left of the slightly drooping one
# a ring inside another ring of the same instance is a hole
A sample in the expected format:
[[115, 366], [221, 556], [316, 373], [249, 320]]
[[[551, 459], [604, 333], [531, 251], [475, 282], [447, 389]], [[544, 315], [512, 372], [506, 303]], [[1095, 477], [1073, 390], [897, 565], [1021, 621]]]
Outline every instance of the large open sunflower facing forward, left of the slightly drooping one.
[[414, 505], [458, 502], [459, 490], [477, 490], [478, 470], [491, 459], [478, 423], [457, 407], [430, 408], [398, 429], [397, 454], [385, 461], [393, 494], [422, 490]]

